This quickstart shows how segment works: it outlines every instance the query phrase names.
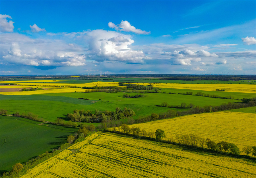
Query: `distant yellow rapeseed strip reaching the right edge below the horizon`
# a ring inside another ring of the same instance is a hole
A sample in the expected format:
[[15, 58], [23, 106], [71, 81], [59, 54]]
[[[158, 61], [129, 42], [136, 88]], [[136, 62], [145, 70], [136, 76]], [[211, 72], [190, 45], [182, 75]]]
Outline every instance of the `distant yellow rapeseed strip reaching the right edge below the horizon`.
[[[136, 83], [140, 85], [148, 85], [148, 83]], [[204, 90], [216, 91], [216, 89], [225, 89], [226, 92], [240, 92], [240, 93], [256, 93], [256, 85], [243, 84], [165, 84], [152, 83], [154, 87], [159, 88], [176, 88], [176, 89], [190, 89], [190, 90]]]

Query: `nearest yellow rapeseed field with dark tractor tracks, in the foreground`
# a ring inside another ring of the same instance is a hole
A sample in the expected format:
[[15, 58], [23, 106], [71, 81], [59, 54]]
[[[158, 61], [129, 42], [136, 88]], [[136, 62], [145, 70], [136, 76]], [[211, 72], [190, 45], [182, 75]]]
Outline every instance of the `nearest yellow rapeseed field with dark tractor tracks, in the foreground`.
[[[255, 177], [255, 163], [159, 142], [95, 133], [30, 169], [28, 177]], [[89, 144], [88, 144], [89, 143]]]

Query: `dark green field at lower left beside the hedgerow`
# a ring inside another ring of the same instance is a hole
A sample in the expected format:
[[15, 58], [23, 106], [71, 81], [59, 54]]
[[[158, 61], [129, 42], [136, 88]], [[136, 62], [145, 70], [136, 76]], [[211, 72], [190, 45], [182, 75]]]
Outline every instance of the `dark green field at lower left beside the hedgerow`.
[[78, 130], [11, 116], [1, 116], [0, 129], [1, 172], [10, 171], [15, 163], [27, 162], [46, 150], [58, 148], [68, 135]]

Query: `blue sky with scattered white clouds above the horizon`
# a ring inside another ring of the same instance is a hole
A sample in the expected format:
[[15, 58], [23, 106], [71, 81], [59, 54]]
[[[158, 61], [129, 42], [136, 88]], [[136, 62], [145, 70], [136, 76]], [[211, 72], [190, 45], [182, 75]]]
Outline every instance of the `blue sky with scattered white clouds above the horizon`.
[[0, 1], [0, 74], [255, 74], [256, 1]]

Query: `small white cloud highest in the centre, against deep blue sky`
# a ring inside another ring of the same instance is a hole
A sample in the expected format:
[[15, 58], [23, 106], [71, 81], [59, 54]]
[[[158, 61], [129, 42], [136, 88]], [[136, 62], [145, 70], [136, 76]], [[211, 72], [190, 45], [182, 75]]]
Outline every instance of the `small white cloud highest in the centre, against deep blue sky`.
[[115, 25], [113, 22], [108, 22], [108, 26], [110, 28], [114, 28], [115, 30], [124, 31], [124, 32], [133, 32], [133, 33], [144, 34], [144, 35], [150, 34], [150, 31], [146, 32], [144, 30], [135, 28], [127, 20], [122, 20], [121, 23], [118, 25]]

